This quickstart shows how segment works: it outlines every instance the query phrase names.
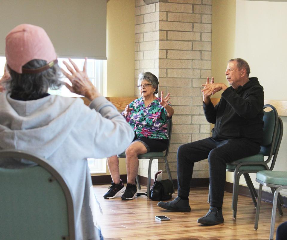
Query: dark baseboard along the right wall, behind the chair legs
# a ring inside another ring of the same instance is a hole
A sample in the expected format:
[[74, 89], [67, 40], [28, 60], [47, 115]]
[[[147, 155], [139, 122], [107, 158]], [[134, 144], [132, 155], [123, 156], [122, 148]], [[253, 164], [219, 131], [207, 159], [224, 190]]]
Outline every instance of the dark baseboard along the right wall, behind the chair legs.
[[[258, 194], [258, 189], [255, 189]], [[233, 183], [225, 182], [225, 191], [233, 192]], [[251, 198], [249, 188], [247, 186], [239, 185], [238, 194]], [[287, 197], [282, 196], [284, 205], [283, 207], [287, 208]], [[268, 203], [273, 203], [273, 194], [271, 192], [262, 191], [261, 200]]]

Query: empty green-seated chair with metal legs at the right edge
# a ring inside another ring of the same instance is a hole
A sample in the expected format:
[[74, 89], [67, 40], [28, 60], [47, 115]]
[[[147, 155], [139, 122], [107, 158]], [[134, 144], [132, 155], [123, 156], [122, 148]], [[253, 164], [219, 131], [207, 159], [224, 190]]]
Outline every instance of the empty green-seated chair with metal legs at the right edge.
[[[255, 224], [254, 229], [258, 229], [258, 220], [259, 220], [259, 212], [260, 212], [260, 202], [262, 195], [262, 186], [267, 186], [276, 189], [273, 197], [273, 207], [272, 207], [272, 217], [271, 217], [271, 228], [270, 228], [270, 237], [272, 240], [274, 236], [274, 225], [275, 225], [275, 215], [276, 215], [276, 206], [280, 206], [280, 201], [277, 201], [279, 192], [282, 189], [287, 188], [287, 172], [284, 171], [259, 171], [256, 174], [256, 182], [259, 183], [259, 191], [258, 191], [258, 201], [257, 201], [257, 209], [255, 216]], [[282, 215], [280, 213], [280, 215]]]

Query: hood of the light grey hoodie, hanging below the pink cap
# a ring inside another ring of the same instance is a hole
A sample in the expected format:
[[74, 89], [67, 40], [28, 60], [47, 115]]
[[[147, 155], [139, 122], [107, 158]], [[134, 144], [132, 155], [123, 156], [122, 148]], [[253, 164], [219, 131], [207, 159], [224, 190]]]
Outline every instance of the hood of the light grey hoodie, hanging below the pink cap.
[[1, 93], [0, 101], [0, 148], [32, 153], [36, 149], [45, 158], [61, 146], [83, 109], [81, 99], [58, 95], [19, 101], [10, 98], [10, 93]]

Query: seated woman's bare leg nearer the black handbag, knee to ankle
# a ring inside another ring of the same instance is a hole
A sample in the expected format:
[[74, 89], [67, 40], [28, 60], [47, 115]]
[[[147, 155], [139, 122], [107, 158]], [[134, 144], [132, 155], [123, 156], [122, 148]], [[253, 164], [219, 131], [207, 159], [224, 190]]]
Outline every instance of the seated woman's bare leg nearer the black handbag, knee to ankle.
[[138, 155], [147, 153], [145, 145], [135, 141], [126, 149], [126, 172], [127, 183], [135, 184], [135, 177], [138, 174]]

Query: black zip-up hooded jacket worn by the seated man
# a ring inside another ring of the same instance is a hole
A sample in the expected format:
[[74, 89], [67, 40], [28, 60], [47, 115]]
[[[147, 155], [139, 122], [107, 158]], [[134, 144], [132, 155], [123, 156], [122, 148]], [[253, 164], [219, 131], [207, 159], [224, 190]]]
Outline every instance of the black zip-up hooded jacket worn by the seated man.
[[206, 120], [215, 124], [211, 130], [215, 140], [240, 138], [262, 143], [263, 137], [263, 87], [257, 78], [238, 89], [225, 89], [214, 107], [210, 102], [203, 104]]

